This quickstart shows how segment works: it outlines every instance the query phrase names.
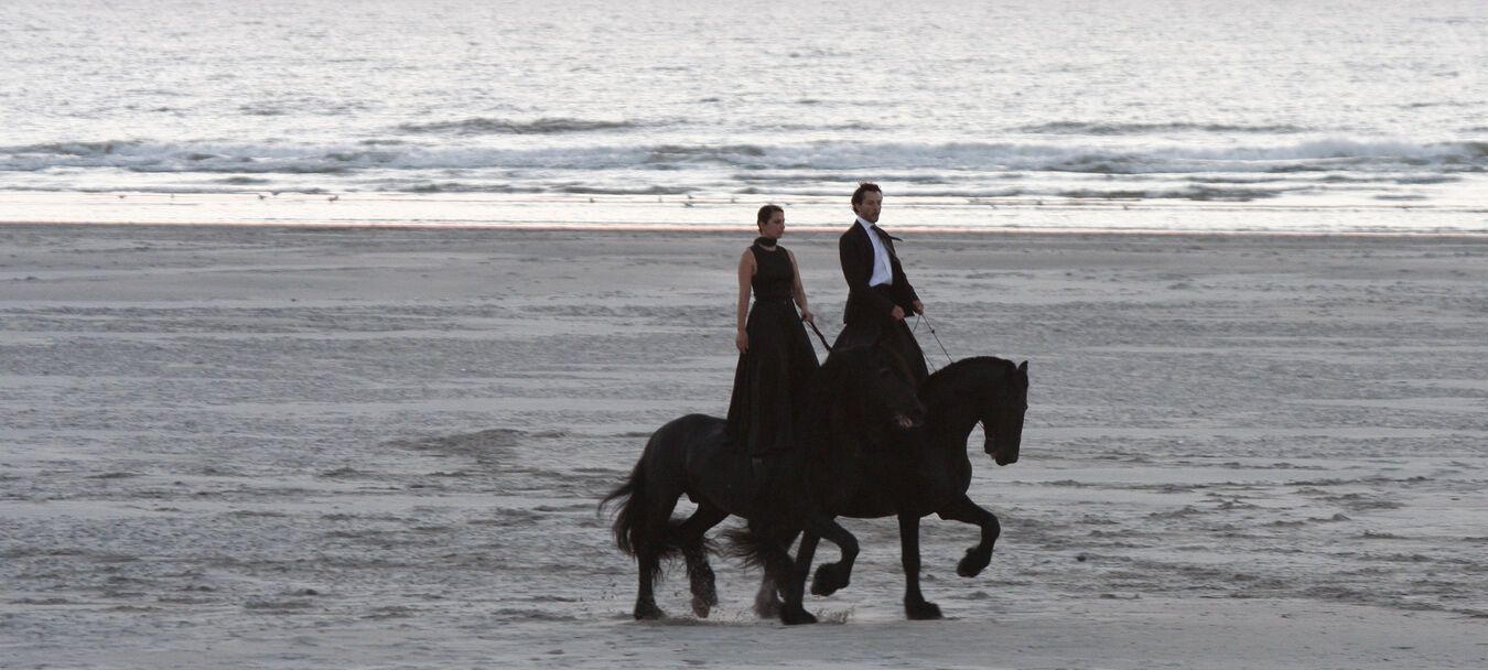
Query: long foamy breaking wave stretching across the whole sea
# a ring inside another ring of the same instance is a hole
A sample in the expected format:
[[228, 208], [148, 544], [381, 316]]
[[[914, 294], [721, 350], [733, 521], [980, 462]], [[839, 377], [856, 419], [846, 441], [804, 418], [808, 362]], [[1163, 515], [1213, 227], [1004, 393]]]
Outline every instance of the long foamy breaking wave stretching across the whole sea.
[[[765, 179], [839, 177], [842, 171], [909, 173], [930, 183], [946, 177], [1030, 173], [1181, 174], [1214, 179], [1237, 174], [1321, 173], [1318, 180], [1394, 180], [1430, 185], [1460, 173], [1488, 171], [1488, 143], [1321, 138], [1277, 146], [1174, 146], [1143, 143], [878, 143], [818, 141], [646, 146], [610, 141], [591, 146], [512, 149], [500, 144], [359, 141], [341, 146], [290, 143], [159, 143], [149, 140], [55, 141], [0, 147], [0, 176], [49, 170], [116, 168], [135, 173], [330, 174], [376, 170], [476, 171], [491, 179], [527, 179], [534, 171], [689, 171], [719, 167]], [[481, 179], [479, 174], [470, 176]], [[412, 179], [412, 177], [411, 177]], [[429, 182], [429, 177], [418, 177]], [[463, 182], [464, 179], [457, 179]], [[1253, 194], [1259, 195], [1259, 194]]]

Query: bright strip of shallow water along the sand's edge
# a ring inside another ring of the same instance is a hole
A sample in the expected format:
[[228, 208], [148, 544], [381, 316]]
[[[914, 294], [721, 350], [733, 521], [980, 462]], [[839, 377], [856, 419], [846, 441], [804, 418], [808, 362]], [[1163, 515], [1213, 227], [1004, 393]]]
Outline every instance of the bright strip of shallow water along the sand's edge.
[[[253, 225], [583, 231], [753, 229], [760, 204], [787, 228], [851, 223], [847, 197], [510, 194], [155, 194], [0, 191], [0, 225]], [[896, 197], [884, 225], [937, 234], [1488, 235], [1488, 211], [1400, 204]]]

